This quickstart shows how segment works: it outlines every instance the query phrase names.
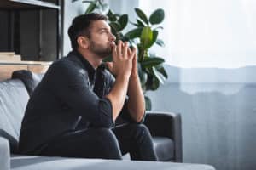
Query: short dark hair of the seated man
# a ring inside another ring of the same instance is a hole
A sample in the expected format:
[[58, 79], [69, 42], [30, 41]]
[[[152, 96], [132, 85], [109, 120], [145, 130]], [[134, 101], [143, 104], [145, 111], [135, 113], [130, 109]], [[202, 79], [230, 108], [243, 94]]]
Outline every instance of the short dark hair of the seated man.
[[79, 47], [77, 42], [79, 36], [90, 37], [91, 22], [96, 20], [107, 20], [107, 17], [102, 14], [90, 13], [79, 15], [73, 19], [72, 25], [68, 28], [68, 36], [73, 49]]

